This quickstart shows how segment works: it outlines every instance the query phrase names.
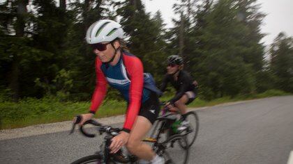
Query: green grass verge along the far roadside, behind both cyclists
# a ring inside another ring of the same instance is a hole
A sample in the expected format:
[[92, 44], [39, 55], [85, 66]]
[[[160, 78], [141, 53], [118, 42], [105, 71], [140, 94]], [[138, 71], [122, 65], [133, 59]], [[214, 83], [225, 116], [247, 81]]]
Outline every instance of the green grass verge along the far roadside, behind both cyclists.
[[[232, 101], [260, 99], [290, 95], [280, 90], [268, 90], [261, 94], [238, 97], [221, 97], [211, 101], [197, 98], [188, 107], [214, 106]], [[167, 101], [172, 96], [161, 97], [160, 101]], [[0, 129], [14, 129], [34, 124], [47, 124], [72, 120], [75, 115], [87, 113], [89, 102], [60, 102], [54, 98], [22, 99], [19, 103], [10, 101], [0, 102]], [[108, 100], [103, 103], [96, 113], [96, 117], [123, 115], [126, 112], [126, 102]]]

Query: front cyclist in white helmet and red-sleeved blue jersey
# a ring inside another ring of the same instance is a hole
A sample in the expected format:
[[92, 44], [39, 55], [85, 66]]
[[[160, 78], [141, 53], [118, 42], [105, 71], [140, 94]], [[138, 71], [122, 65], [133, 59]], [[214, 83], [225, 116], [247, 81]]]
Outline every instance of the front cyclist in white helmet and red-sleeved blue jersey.
[[110, 152], [114, 154], [126, 145], [128, 151], [138, 158], [151, 163], [164, 163], [163, 157], [141, 141], [158, 117], [160, 90], [154, 85], [151, 75], [144, 74], [140, 59], [125, 51], [123, 33], [121, 24], [109, 19], [94, 22], [87, 30], [87, 43], [96, 54], [96, 89], [89, 113], [82, 115], [80, 124], [93, 118], [109, 83], [128, 102], [123, 129], [112, 138]]

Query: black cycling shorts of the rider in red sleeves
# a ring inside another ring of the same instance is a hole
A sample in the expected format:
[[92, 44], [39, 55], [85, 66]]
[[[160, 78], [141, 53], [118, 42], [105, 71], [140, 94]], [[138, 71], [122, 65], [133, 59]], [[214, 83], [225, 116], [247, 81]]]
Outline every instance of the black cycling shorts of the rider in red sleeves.
[[146, 117], [151, 124], [156, 121], [158, 114], [160, 113], [160, 101], [158, 95], [155, 92], [150, 93], [150, 97], [147, 101], [144, 101], [140, 106], [140, 113], [138, 115]]

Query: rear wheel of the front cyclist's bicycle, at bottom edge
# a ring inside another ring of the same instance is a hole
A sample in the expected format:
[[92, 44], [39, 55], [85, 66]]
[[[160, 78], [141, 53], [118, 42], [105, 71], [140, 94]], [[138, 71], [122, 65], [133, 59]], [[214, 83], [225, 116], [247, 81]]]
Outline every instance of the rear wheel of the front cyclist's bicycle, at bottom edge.
[[[163, 149], [158, 147], [155, 151], [159, 156], [165, 158], [165, 163], [168, 164], [186, 164], [188, 163], [189, 149], [186, 136], [176, 134], [168, 138], [165, 142], [161, 143], [164, 145]], [[185, 144], [185, 147], [181, 147], [180, 144]]]

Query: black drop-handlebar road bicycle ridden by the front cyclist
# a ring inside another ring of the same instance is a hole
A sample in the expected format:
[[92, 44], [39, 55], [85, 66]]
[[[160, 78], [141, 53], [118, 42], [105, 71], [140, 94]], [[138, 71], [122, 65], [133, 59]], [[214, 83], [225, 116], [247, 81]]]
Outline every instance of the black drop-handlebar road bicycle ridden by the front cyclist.
[[[75, 129], [75, 125], [80, 122], [81, 117], [77, 116], [76, 121], [73, 123], [73, 128], [70, 131], [70, 134], [73, 133]], [[158, 120], [172, 120], [168, 117], [160, 117]], [[96, 154], [93, 154], [91, 156], [85, 156], [83, 158], [78, 159], [77, 161], [74, 161], [73, 164], [81, 164], [81, 163], [96, 163], [96, 164], [110, 164], [110, 163], [138, 163], [139, 159], [129, 154], [125, 148], [119, 149], [117, 153], [110, 154], [110, 144], [111, 139], [114, 136], [117, 136], [119, 134], [119, 131], [121, 129], [113, 128], [112, 126], [105, 126], [100, 124], [99, 122], [96, 122], [95, 120], [88, 120], [87, 122], [84, 122], [82, 126], [80, 126], [80, 131], [84, 136], [87, 136], [89, 138], [96, 137], [95, 134], [87, 133], [87, 131], [84, 131], [84, 125], [86, 124], [92, 124], [94, 126], [98, 127], [98, 132], [100, 135], [103, 133], [106, 133], [106, 136], [104, 137], [103, 144], [100, 145], [100, 151], [97, 151]], [[156, 138], [160, 138], [160, 133], [158, 133], [158, 136]], [[188, 143], [185, 136], [182, 136], [181, 134], [176, 134], [171, 136], [170, 138], [167, 138], [167, 140], [164, 140], [163, 142], [158, 142], [158, 140], [150, 140], [149, 138], [146, 138], [143, 140], [144, 142], [151, 142], [153, 143], [153, 150], [158, 154], [159, 156], [163, 156], [165, 158], [165, 163], [174, 163], [174, 164], [186, 164], [188, 162]], [[178, 146], [176, 146], [178, 144]], [[185, 146], [179, 146], [179, 145], [185, 145]], [[179, 150], [180, 149], [180, 150]], [[180, 152], [180, 156], [174, 156], [175, 154], [178, 154], [178, 151]]]

